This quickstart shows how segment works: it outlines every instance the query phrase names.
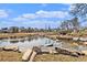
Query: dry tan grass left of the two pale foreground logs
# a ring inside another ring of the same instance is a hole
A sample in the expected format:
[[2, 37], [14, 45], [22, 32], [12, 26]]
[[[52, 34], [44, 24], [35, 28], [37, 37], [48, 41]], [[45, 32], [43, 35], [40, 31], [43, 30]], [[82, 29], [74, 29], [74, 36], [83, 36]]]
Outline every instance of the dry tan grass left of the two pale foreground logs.
[[21, 62], [22, 53], [18, 52], [0, 52], [0, 62]]

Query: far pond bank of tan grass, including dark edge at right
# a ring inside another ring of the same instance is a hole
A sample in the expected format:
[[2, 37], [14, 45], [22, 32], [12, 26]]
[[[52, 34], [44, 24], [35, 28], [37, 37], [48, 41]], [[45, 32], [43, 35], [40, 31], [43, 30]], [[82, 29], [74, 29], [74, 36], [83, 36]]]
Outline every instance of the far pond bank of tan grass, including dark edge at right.
[[72, 36], [72, 35], [59, 35], [54, 33], [0, 33], [0, 40], [1, 39], [19, 39], [19, 37], [25, 37], [25, 36], [45, 36], [48, 39], [61, 39], [61, 40], [75, 40], [75, 41], [87, 41], [87, 37], [84, 36]]

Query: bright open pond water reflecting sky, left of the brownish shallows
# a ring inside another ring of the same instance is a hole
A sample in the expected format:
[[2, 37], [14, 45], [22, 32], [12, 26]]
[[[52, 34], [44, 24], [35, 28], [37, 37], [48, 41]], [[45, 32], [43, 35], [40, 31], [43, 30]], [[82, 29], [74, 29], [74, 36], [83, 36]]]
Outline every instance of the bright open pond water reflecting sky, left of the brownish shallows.
[[53, 44], [53, 41], [46, 37], [23, 37], [23, 39], [0, 40], [0, 46], [18, 45], [20, 48], [29, 48], [41, 45], [45, 46], [45, 44]]

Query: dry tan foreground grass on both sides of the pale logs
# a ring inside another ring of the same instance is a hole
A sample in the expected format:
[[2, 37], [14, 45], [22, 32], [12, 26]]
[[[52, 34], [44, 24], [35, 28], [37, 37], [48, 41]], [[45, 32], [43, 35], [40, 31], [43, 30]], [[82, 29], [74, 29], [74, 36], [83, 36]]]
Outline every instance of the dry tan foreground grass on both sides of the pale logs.
[[[0, 62], [22, 62], [22, 53], [18, 52], [0, 52]], [[35, 62], [87, 62], [87, 56], [74, 57], [63, 54], [39, 54], [34, 58]]]

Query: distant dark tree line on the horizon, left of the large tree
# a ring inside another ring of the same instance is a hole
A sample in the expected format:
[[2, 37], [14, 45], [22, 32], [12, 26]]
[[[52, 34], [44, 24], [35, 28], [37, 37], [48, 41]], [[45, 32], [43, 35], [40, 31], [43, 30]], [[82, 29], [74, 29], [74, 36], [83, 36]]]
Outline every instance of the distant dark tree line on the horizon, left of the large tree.
[[57, 31], [56, 29], [37, 29], [37, 28], [18, 28], [18, 26], [10, 26], [10, 28], [1, 28], [0, 33], [30, 33], [30, 32], [53, 32]]

